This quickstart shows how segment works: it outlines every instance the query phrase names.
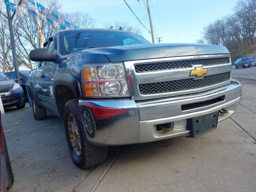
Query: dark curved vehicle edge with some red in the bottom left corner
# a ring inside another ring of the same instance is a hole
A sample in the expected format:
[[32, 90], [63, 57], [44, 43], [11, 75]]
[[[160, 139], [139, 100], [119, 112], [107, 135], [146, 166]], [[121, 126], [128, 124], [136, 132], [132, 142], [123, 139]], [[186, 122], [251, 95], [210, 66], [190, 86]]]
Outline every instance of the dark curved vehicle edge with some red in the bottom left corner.
[[4, 137], [0, 112], [0, 191], [5, 192], [6, 189], [10, 189], [13, 181], [14, 177]]

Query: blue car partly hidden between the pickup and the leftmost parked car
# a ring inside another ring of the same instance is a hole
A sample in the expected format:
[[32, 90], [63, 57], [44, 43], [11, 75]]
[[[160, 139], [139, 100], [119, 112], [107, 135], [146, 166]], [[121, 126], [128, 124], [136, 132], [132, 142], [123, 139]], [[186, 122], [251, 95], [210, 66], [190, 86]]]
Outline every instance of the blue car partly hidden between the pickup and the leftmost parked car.
[[[26, 101], [28, 101], [26, 86], [27, 86], [27, 80], [28, 80], [29, 73], [30, 73], [30, 70], [20, 70], [19, 71], [20, 86], [23, 89], [24, 98], [26, 99]], [[17, 81], [15, 71], [9, 71], [4, 74], [7, 75], [8, 77], [10, 77], [11, 79], [13, 79], [14, 81]]]

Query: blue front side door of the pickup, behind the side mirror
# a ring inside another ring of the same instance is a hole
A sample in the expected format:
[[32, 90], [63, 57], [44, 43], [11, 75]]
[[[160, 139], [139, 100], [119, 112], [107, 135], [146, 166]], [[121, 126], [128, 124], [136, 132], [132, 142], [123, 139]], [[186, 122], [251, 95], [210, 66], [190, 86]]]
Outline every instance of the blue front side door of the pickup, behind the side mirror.
[[[54, 42], [49, 42], [47, 46], [50, 53], [56, 53], [57, 51], [54, 49]], [[53, 88], [53, 80], [55, 71], [57, 69], [57, 63], [46, 61], [45, 65], [42, 68], [42, 102], [43, 105], [54, 114], [58, 115], [58, 108], [55, 102], [54, 96], [54, 88]]]

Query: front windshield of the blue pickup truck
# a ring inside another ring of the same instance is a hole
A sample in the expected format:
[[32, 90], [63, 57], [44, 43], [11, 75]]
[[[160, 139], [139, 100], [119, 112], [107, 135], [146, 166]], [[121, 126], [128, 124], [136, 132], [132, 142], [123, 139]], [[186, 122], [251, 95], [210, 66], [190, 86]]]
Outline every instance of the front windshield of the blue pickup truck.
[[68, 54], [73, 51], [102, 46], [150, 44], [146, 39], [128, 31], [116, 30], [84, 30], [64, 31], [61, 37], [61, 52]]

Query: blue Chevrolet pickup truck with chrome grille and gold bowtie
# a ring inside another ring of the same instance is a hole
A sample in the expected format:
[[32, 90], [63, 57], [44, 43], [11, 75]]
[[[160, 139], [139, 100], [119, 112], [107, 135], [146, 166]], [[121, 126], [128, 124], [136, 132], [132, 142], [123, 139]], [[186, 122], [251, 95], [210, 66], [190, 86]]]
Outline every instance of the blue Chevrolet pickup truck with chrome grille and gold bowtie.
[[72, 29], [31, 51], [30, 60], [38, 61], [27, 82], [34, 117], [63, 118], [71, 157], [83, 169], [105, 161], [107, 146], [213, 131], [241, 100], [225, 46]]

